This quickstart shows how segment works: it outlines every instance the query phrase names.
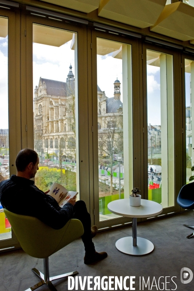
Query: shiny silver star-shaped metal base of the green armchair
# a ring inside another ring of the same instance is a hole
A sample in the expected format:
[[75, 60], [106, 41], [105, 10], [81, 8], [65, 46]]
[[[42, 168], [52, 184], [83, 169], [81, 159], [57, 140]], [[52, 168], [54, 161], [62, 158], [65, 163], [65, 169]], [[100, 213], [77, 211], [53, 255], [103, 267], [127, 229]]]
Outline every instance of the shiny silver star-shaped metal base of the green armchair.
[[49, 287], [49, 290], [51, 290], [51, 291], [57, 291], [57, 289], [52, 284], [52, 281], [78, 274], [77, 271], [74, 271], [74, 272], [70, 272], [70, 273], [63, 274], [63, 275], [49, 277], [49, 280], [45, 280], [44, 274], [42, 274], [36, 268], [33, 268], [32, 271], [41, 279], [41, 281], [38, 282], [37, 284], [35, 284], [34, 286], [32, 286], [31, 288], [28, 288], [25, 291], [33, 291], [33, 290], [36, 290], [36, 289], [38, 289], [39, 287], [41, 287], [42, 285], [45, 285], [45, 284]]

